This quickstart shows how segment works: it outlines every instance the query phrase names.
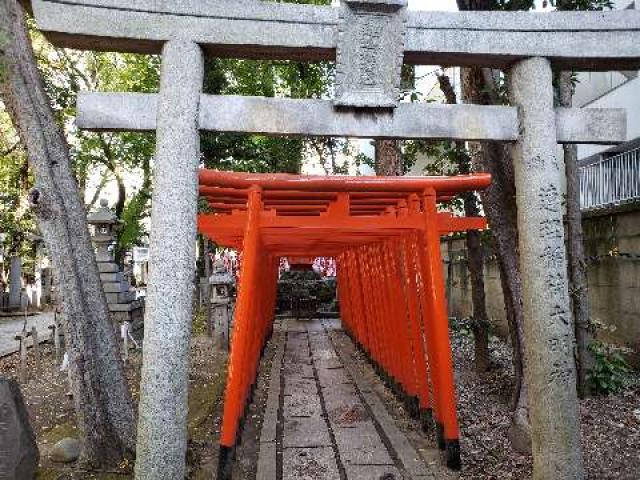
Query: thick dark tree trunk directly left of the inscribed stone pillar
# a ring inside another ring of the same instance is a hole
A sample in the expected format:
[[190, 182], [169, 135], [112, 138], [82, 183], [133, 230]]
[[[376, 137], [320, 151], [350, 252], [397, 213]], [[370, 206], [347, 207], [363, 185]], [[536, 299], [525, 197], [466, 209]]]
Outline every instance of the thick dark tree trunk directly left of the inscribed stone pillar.
[[[492, 104], [488, 92], [496, 90], [491, 72], [480, 68], [462, 70], [463, 96], [466, 103]], [[522, 305], [522, 279], [519, 269], [517, 208], [513, 163], [508, 150], [498, 143], [474, 143], [472, 159], [480, 170], [491, 173], [491, 186], [481, 193], [485, 214], [495, 238], [496, 255], [500, 267], [505, 311], [513, 347], [515, 386], [513, 418], [509, 438], [519, 451], [531, 451], [531, 435], [527, 406], [527, 385], [524, 381], [524, 312]]]

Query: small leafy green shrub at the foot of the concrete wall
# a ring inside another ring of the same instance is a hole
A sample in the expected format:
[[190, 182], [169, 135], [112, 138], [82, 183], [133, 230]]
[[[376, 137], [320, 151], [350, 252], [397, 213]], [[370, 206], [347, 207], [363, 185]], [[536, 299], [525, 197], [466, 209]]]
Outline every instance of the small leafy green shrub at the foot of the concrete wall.
[[630, 368], [624, 359], [624, 349], [594, 341], [589, 345], [593, 354], [593, 367], [587, 373], [587, 380], [595, 393], [608, 395], [622, 390], [629, 382]]

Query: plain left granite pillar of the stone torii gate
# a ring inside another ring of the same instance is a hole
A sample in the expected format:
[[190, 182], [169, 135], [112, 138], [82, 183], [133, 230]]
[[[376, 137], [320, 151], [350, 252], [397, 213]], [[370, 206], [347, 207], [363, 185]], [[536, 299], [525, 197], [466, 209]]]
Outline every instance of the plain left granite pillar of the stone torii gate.
[[171, 40], [162, 50], [135, 468], [139, 480], [185, 476], [203, 63], [200, 47], [190, 41]]

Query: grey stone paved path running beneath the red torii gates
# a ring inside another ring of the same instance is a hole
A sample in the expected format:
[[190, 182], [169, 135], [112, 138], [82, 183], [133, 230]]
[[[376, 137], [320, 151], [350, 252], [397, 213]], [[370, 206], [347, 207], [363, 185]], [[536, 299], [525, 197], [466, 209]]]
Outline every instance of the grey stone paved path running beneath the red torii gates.
[[331, 320], [283, 322], [258, 480], [432, 480]]

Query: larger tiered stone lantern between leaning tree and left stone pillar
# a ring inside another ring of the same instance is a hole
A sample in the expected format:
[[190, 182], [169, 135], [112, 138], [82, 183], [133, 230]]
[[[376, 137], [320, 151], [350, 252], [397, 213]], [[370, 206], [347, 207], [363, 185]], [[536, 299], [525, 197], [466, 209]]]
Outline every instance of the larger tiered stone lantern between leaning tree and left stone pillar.
[[136, 292], [115, 262], [113, 246], [120, 221], [109, 208], [107, 200], [100, 200], [100, 208], [87, 216], [87, 223], [93, 227], [91, 239], [96, 249], [100, 280], [107, 296], [111, 319], [115, 323], [142, 322], [142, 302], [136, 300]]

